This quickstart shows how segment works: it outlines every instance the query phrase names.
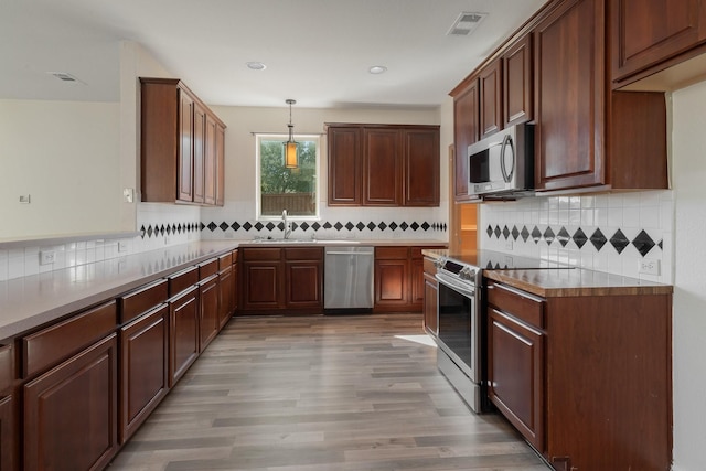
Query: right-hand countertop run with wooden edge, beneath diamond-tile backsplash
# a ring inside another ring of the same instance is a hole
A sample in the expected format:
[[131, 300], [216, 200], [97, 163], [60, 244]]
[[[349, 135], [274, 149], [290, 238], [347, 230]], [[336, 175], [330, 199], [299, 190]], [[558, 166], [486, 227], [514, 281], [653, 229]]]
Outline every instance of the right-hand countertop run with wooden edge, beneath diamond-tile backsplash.
[[483, 276], [494, 281], [544, 298], [617, 295], [668, 295], [671, 285], [623, 277], [603, 271], [561, 266], [526, 257], [479, 250], [454, 255], [445, 249], [426, 249], [430, 258], [448, 257], [483, 268]]

